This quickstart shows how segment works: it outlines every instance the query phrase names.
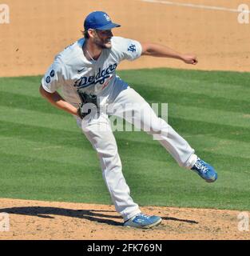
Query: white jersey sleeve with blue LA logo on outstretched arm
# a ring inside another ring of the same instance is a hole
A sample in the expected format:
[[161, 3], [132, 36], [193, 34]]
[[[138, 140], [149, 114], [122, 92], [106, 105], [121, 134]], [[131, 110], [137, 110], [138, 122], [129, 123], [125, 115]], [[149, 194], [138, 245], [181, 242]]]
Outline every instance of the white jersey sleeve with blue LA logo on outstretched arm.
[[129, 38], [117, 38], [117, 51], [120, 61], [133, 61], [141, 56], [141, 43]]

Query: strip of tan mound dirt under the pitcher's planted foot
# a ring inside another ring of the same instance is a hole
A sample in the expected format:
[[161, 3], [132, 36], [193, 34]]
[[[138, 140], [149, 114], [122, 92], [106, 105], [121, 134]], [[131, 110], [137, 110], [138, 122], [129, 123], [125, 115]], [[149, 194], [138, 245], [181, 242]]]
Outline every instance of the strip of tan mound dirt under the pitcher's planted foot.
[[[141, 207], [163, 219], [160, 226], [139, 230], [122, 226], [113, 206], [0, 199], [0, 213], [10, 218], [10, 231], [0, 239], [249, 239], [238, 230], [235, 210]], [[250, 214], [250, 213], [248, 213]]]

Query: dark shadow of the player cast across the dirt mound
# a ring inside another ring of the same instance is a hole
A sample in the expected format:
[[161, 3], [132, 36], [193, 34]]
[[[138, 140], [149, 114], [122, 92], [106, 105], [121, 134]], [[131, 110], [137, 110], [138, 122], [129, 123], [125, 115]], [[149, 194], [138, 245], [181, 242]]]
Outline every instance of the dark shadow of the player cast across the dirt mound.
[[[112, 226], [123, 226], [123, 219], [121, 216], [110, 215], [109, 213], [116, 213], [115, 210], [72, 210], [57, 207], [42, 207], [42, 206], [26, 206], [26, 207], [12, 207], [0, 209], [0, 213], [7, 214], [22, 214], [37, 216], [38, 218], [54, 218], [50, 215], [61, 215], [71, 218], [83, 218], [92, 222], [105, 223]], [[108, 214], [105, 214], [108, 213]], [[110, 218], [115, 218], [121, 221], [113, 221]], [[187, 222], [192, 224], [198, 224], [198, 222], [186, 219], [162, 217], [162, 219], [167, 221], [176, 222]]]

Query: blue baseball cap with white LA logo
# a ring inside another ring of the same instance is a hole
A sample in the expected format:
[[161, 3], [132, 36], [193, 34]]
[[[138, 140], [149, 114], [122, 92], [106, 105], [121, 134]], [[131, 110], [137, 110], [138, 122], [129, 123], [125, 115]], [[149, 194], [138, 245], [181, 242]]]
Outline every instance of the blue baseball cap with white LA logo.
[[93, 11], [84, 21], [84, 30], [111, 30], [118, 26], [120, 25], [113, 23], [109, 15], [103, 11]]

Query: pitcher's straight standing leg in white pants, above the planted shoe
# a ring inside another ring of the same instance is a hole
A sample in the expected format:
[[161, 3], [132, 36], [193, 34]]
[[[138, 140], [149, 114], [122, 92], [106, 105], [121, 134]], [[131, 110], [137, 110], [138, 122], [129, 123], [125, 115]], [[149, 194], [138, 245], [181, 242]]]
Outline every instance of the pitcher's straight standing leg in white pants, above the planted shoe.
[[93, 148], [97, 150], [101, 162], [102, 177], [117, 212], [125, 221], [141, 213], [139, 206], [130, 197], [129, 186], [122, 174], [117, 142], [109, 125], [109, 119], [101, 116], [98, 122], [91, 122], [90, 124], [82, 122], [81, 128]]

